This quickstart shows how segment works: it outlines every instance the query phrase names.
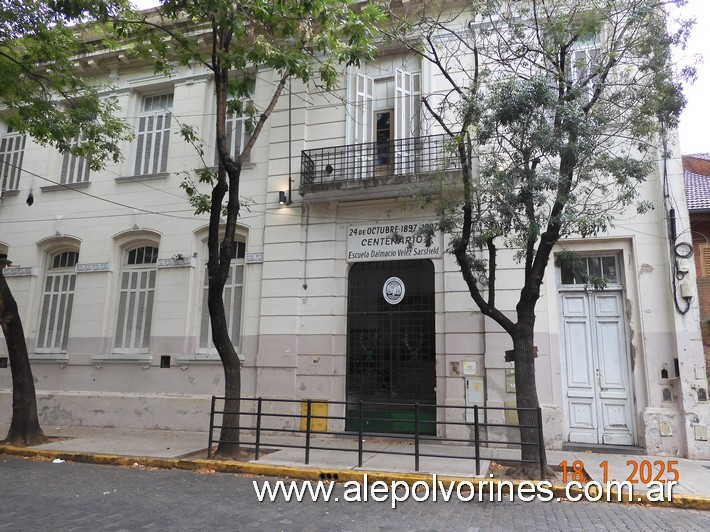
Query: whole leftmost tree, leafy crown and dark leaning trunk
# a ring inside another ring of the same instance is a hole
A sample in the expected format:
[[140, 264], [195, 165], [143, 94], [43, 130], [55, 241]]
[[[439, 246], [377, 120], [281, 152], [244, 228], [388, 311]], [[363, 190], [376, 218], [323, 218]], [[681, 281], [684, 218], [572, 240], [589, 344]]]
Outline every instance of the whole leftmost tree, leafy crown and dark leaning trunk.
[[[81, 37], [84, 25], [120, 8], [118, 2], [3, 0], [0, 11], [0, 105], [8, 110], [3, 121], [41, 144], [86, 158], [93, 169], [106, 160], [118, 160], [117, 141], [130, 137], [130, 132], [113, 116], [114, 100], [101, 98], [99, 86], [75, 73], [73, 58], [96, 44]], [[4, 256], [0, 259], [0, 325], [13, 389], [12, 420], [5, 441], [36, 445], [46, 437], [37, 416], [17, 303], [2, 273], [9, 261]]]

